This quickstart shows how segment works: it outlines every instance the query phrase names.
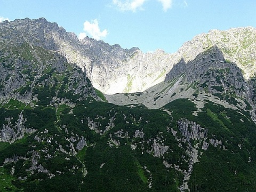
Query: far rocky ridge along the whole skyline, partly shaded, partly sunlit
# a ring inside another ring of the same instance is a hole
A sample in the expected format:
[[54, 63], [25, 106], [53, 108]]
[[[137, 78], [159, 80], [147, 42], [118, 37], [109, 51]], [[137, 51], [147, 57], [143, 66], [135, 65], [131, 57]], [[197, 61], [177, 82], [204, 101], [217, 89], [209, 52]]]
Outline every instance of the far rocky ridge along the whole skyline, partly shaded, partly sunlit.
[[89, 37], [79, 41], [74, 33], [67, 33], [57, 23], [44, 18], [2, 22], [0, 33], [4, 42], [6, 39], [20, 45], [30, 42], [58, 52], [86, 71], [92, 85], [106, 94], [145, 91], [163, 82], [182, 58], [187, 63], [212, 46], [217, 46], [225, 59], [235, 62], [244, 71], [245, 79], [255, 72], [256, 29], [252, 27], [209, 31], [186, 42], [173, 54], [163, 50], [142, 53], [137, 47], [122, 49], [117, 44], [109, 45]]

